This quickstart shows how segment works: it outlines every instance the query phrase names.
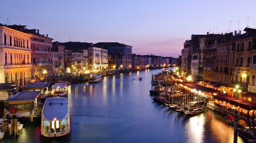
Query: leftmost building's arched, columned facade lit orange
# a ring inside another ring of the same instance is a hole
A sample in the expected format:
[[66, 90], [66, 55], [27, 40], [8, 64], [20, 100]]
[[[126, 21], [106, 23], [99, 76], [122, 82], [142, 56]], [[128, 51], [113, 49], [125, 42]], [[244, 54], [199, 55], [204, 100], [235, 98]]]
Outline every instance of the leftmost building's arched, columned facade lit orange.
[[31, 36], [0, 24], [0, 83], [24, 86], [31, 78]]

